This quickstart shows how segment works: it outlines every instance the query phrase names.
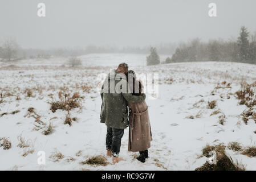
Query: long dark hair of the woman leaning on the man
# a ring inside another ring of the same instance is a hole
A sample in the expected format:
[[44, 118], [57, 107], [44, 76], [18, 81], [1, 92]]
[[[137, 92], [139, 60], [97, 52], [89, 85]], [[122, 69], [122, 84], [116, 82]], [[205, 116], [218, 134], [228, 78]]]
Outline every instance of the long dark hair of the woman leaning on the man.
[[[141, 90], [142, 90], [142, 84], [141, 84], [141, 81], [137, 80], [135, 72], [132, 70], [129, 70], [127, 72], [126, 77], [127, 77], [129, 88], [132, 90], [132, 94], [135, 96], [140, 96]], [[130, 79], [129, 79], [129, 77], [130, 77]], [[131, 77], [132, 77], [132, 82], [131, 82]], [[139, 86], [139, 90], [136, 90], [135, 86]], [[138, 91], [139, 91], [139, 93], [137, 93]]]

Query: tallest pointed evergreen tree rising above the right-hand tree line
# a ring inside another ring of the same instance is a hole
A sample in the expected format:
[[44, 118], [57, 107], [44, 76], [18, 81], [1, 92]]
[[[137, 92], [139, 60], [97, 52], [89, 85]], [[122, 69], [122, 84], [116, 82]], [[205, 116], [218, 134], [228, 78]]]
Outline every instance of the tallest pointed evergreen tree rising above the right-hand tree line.
[[238, 59], [241, 61], [247, 61], [249, 60], [249, 49], [250, 49], [250, 43], [249, 43], [249, 32], [247, 31], [247, 28], [242, 26], [240, 35], [237, 40], [238, 44]]

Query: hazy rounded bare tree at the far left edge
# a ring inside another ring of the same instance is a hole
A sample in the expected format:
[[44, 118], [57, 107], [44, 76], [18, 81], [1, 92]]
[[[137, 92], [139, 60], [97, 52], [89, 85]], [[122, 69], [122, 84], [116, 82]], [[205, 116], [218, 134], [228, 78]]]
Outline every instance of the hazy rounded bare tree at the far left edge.
[[19, 46], [15, 39], [7, 38], [2, 45], [2, 57], [3, 59], [11, 60], [17, 56]]

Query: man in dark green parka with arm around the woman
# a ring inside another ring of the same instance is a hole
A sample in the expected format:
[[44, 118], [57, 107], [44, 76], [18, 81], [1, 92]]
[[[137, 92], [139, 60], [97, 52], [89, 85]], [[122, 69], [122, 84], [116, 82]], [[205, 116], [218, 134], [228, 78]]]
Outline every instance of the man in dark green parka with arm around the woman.
[[100, 122], [107, 125], [107, 156], [113, 156], [113, 163], [123, 160], [119, 158], [119, 152], [124, 129], [129, 125], [127, 102], [142, 102], [146, 98], [145, 94], [133, 96], [129, 92], [125, 76], [127, 72], [128, 65], [119, 64], [116, 70], [108, 74], [100, 93], [102, 100]]

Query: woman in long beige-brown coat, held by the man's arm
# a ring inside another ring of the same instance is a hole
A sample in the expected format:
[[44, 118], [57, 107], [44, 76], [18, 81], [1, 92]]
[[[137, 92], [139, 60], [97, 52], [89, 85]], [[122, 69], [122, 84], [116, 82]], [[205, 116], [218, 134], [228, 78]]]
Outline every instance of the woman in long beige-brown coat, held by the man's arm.
[[[140, 96], [143, 86], [136, 80], [135, 72], [129, 70], [127, 81], [132, 94]], [[148, 106], [145, 101], [132, 103], [129, 106], [129, 140], [128, 151], [140, 152], [137, 160], [144, 163], [148, 158], [148, 148], [151, 147], [152, 133], [149, 122]]]

